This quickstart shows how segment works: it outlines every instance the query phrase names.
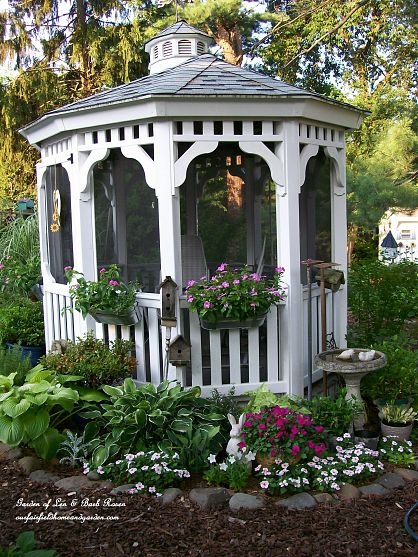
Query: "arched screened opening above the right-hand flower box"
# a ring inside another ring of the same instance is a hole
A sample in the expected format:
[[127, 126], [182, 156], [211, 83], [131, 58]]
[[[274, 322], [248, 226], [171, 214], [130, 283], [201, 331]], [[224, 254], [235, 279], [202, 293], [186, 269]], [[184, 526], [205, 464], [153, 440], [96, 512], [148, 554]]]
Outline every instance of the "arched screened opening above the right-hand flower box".
[[183, 286], [206, 274], [188, 265], [193, 244], [207, 273], [223, 262], [264, 273], [277, 266], [275, 184], [260, 157], [229, 143], [197, 157], [180, 187], [180, 212]]

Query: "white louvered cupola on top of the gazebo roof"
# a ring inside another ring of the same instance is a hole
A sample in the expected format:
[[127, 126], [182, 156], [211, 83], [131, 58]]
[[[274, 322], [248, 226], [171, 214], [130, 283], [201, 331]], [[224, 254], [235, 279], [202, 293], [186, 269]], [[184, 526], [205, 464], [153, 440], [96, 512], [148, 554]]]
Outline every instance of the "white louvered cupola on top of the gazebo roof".
[[189, 58], [208, 52], [213, 39], [185, 21], [178, 21], [145, 44], [150, 56], [150, 74], [182, 64]]

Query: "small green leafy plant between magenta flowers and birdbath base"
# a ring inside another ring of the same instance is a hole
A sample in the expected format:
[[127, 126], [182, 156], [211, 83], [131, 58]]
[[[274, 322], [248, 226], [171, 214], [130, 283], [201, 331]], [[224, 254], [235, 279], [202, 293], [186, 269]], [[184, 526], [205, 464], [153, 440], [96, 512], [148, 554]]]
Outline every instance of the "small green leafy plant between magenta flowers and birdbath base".
[[328, 396], [315, 396], [305, 401], [314, 422], [324, 426], [330, 435], [343, 435], [349, 431], [356, 413], [363, 409], [355, 397], [347, 400], [346, 394], [347, 389], [343, 388], [335, 400]]

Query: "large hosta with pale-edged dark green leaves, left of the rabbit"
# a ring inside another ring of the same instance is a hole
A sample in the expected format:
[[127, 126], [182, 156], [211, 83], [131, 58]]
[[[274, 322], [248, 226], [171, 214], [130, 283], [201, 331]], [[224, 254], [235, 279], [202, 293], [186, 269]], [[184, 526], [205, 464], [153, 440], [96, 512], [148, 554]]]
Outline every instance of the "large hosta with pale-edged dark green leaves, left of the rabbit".
[[209, 452], [218, 452], [226, 441], [219, 433], [225, 416], [213, 413], [212, 404], [200, 397], [199, 387], [183, 389], [164, 381], [158, 387], [137, 388], [132, 379], [125, 379], [121, 387], [103, 390], [109, 403], [102, 404], [102, 411], [82, 414], [104, 432], [100, 439], [92, 436], [96, 467], [112, 456], [158, 446], [177, 451], [182, 465], [194, 471], [204, 467]]

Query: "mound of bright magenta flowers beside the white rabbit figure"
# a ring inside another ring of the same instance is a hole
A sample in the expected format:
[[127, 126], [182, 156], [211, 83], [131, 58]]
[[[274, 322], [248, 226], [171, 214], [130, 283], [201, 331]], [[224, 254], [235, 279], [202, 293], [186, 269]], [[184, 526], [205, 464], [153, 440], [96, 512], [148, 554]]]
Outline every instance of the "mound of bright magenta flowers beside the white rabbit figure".
[[321, 456], [327, 448], [323, 426], [307, 414], [282, 406], [247, 413], [240, 447], [282, 461]]

